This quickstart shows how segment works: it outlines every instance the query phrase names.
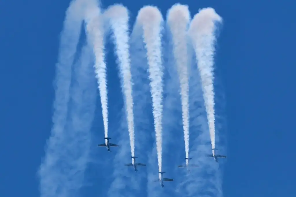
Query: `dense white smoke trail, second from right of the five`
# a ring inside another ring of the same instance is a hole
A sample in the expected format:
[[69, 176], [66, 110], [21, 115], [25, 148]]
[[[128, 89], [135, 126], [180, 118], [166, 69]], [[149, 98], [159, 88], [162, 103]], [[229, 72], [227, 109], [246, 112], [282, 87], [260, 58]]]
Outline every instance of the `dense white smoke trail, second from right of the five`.
[[[188, 54], [187, 54], [187, 26], [190, 22], [188, 6], [175, 4], [168, 11], [167, 23], [173, 39], [173, 54], [181, 88], [182, 119], [185, 141], [186, 158], [189, 157], [189, 82], [188, 82]], [[188, 160], [186, 160], [188, 165]]]

